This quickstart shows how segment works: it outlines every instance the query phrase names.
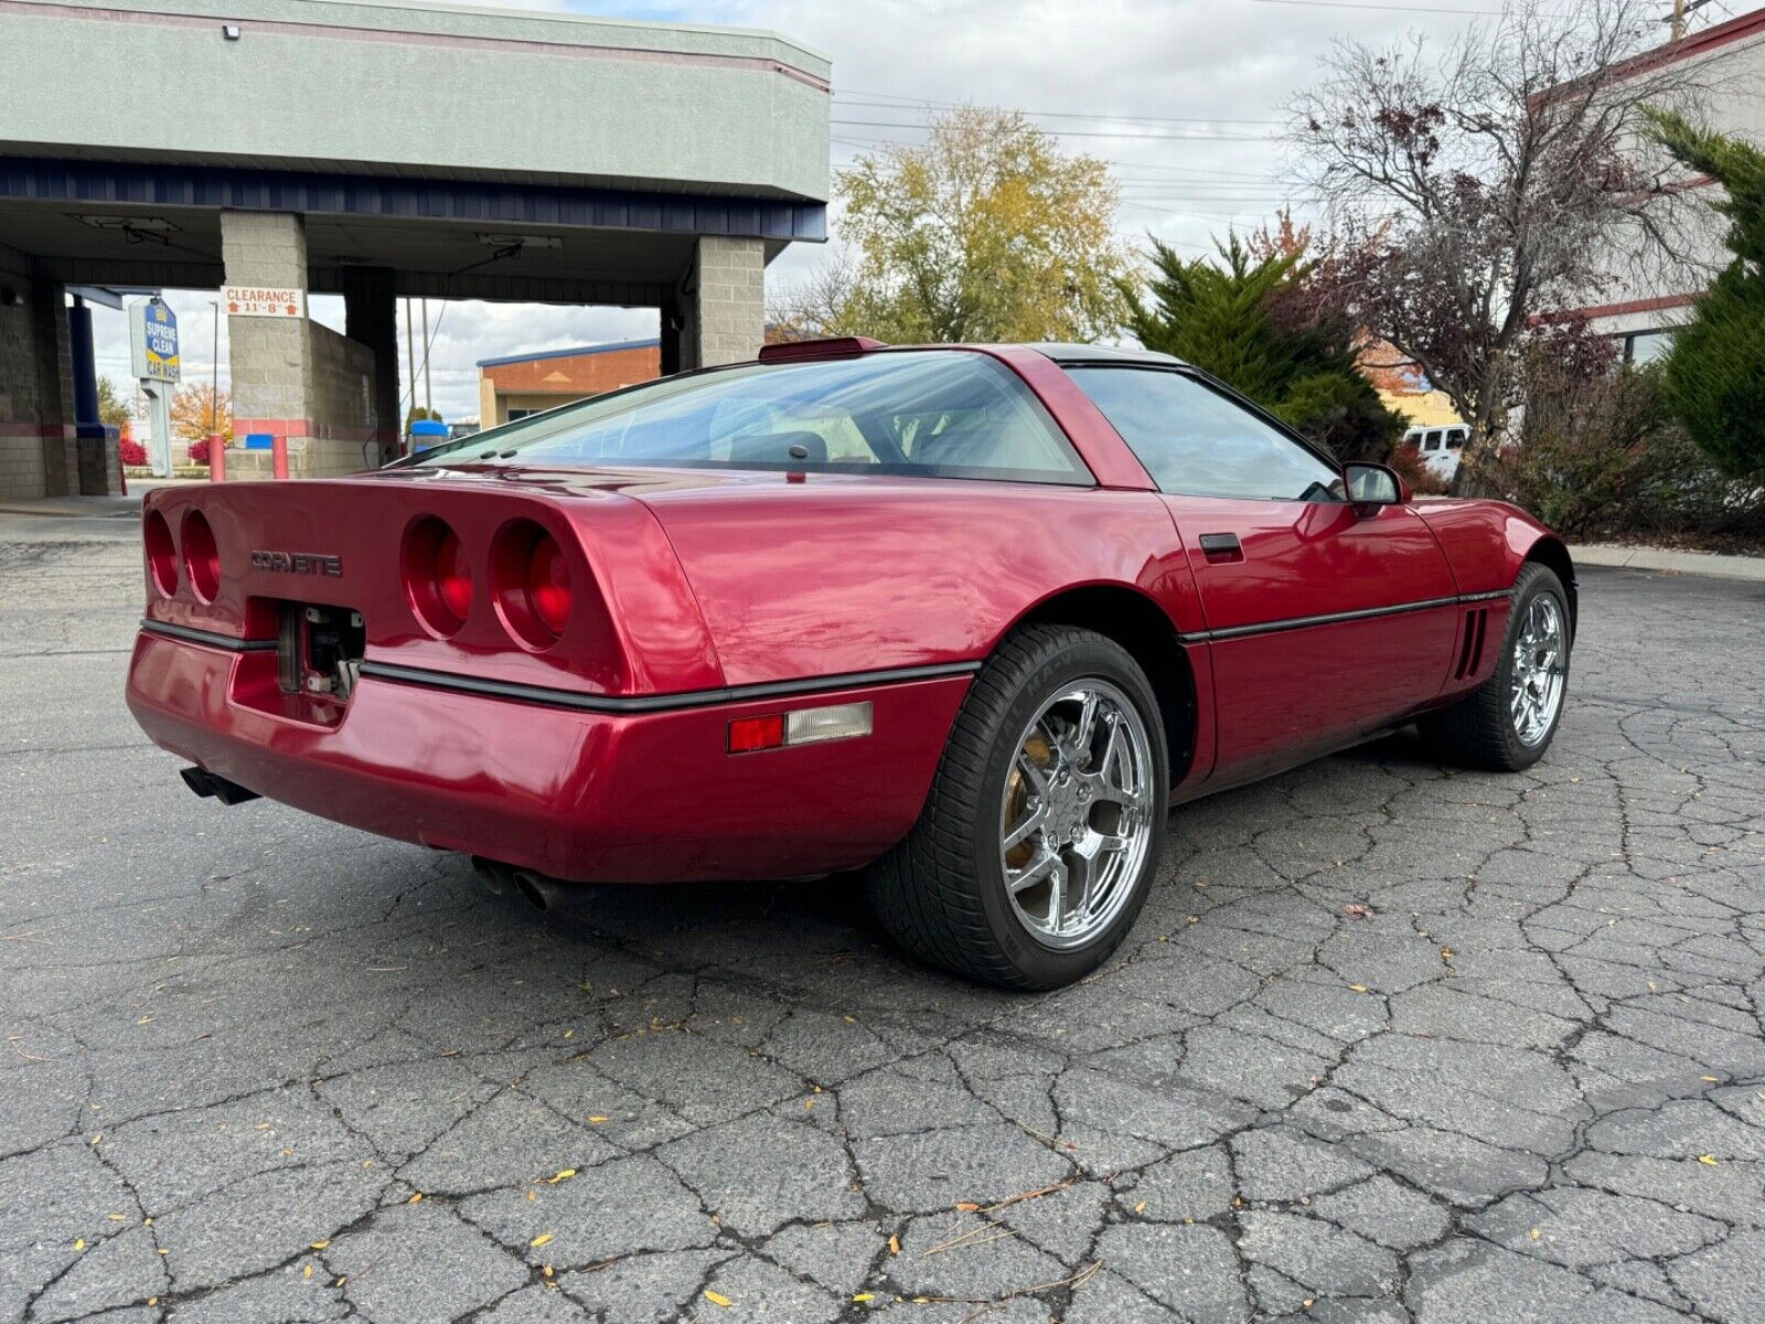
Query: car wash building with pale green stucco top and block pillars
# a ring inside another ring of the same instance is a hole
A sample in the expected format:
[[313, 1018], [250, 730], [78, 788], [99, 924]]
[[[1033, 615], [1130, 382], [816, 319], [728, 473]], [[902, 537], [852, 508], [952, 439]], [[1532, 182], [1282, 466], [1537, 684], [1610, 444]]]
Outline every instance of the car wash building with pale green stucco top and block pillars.
[[295, 477], [395, 452], [401, 297], [653, 307], [662, 372], [752, 357], [766, 265], [826, 237], [828, 76], [731, 28], [0, 0], [0, 498], [116, 480], [71, 291], [214, 290], [235, 436]]

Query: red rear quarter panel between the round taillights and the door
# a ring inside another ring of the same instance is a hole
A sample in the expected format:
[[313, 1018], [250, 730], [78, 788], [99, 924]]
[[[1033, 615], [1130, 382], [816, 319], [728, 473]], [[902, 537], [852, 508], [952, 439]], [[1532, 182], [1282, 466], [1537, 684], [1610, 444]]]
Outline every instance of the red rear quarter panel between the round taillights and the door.
[[1128, 586], [1175, 628], [1200, 611], [1154, 493], [950, 478], [778, 480], [651, 498], [729, 685], [985, 657], [1084, 584]]

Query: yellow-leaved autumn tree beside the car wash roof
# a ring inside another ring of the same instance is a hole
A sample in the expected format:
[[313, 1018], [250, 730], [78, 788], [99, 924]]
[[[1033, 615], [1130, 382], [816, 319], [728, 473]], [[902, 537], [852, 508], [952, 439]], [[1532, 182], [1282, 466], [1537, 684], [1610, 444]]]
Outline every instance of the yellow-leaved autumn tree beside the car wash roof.
[[1121, 320], [1126, 254], [1108, 166], [1017, 111], [932, 118], [835, 171], [851, 258], [775, 304], [791, 335], [893, 342], [1094, 341]]

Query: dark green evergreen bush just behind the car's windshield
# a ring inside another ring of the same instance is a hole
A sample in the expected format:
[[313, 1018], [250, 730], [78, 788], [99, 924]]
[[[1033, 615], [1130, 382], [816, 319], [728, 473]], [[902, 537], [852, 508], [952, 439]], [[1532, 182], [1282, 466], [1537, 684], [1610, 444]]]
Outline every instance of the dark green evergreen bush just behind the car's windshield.
[[1356, 367], [1354, 327], [1310, 297], [1303, 247], [1251, 252], [1237, 235], [1220, 260], [1186, 260], [1153, 240], [1153, 275], [1124, 284], [1128, 330], [1213, 372], [1327, 447], [1338, 459], [1386, 459], [1403, 418]]

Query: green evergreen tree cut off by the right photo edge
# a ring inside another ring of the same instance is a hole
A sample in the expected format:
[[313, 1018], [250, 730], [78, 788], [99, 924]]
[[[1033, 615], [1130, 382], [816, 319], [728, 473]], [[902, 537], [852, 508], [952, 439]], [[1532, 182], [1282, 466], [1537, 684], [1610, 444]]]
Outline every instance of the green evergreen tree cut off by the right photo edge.
[[1765, 152], [1701, 129], [1677, 111], [1650, 111], [1656, 139], [1726, 198], [1733, 261], [1673, 337], [1666, 392], [1673, 413], [1733, 478], [1765, 482]]

